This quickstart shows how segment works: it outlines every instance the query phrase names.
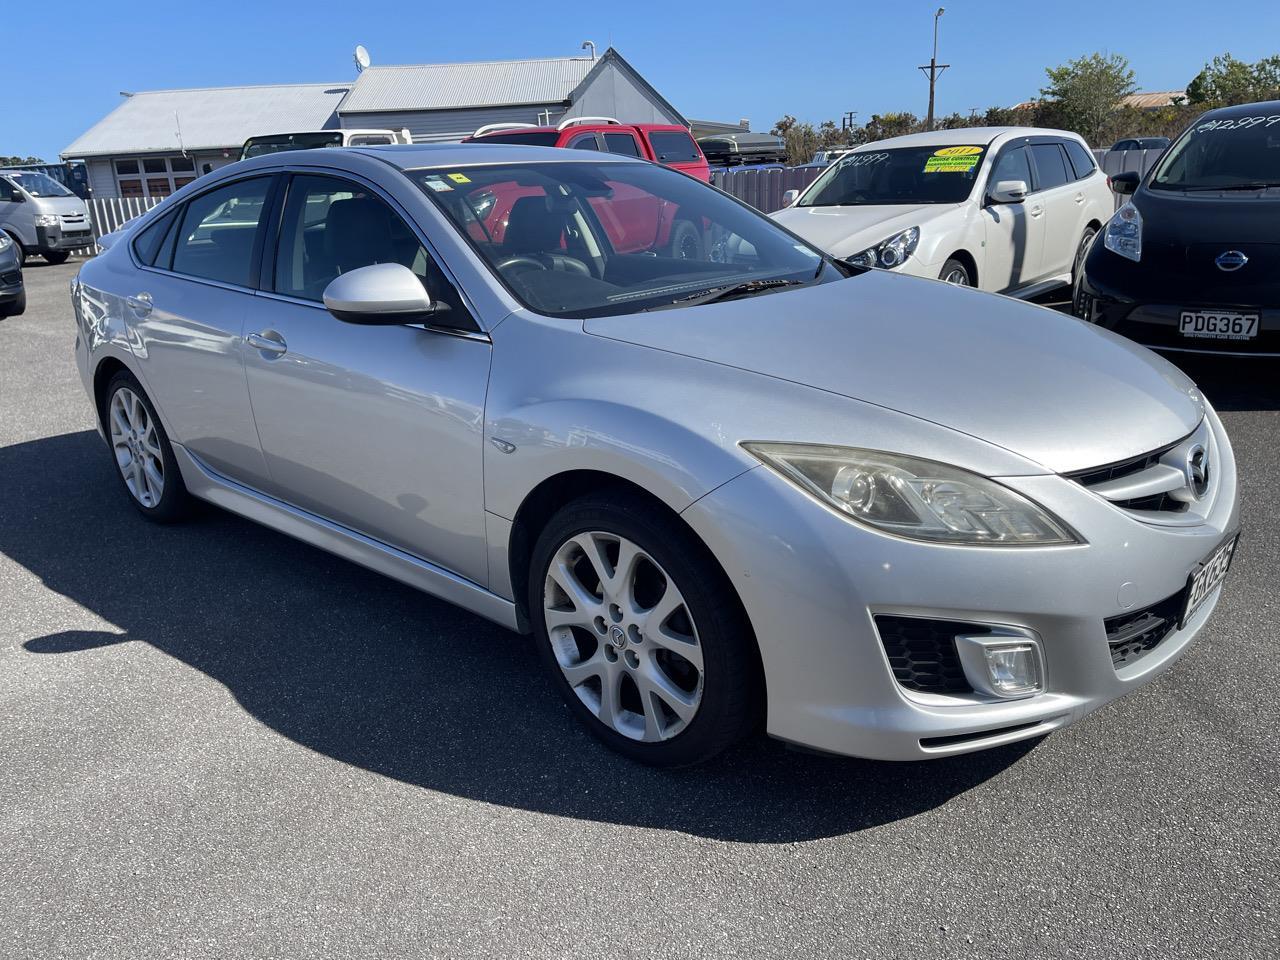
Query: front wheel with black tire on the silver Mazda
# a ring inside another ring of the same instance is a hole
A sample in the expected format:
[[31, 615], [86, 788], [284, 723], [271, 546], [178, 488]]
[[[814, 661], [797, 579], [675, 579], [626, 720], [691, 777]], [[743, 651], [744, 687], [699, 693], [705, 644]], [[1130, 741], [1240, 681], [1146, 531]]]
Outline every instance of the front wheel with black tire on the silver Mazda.
[[570, 709], [631, 759], [701, 763], [756, 723], [759, 654], [728, 579], [687, 527], [634, 494], [552, 517], [529, 611]]

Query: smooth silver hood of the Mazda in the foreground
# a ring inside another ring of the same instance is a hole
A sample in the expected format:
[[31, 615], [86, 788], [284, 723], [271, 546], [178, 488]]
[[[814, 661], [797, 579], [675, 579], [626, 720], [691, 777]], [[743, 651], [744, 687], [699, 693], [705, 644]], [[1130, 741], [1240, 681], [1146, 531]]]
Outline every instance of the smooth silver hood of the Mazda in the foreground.
[[[1053, 472], [1157, 449], [1204, 413], [1181, 371], [1123, 337], [1044, 307], [882, 271], [584, 326], [887, 407]], [[899, 452], [929, 453], [905, 438]]]

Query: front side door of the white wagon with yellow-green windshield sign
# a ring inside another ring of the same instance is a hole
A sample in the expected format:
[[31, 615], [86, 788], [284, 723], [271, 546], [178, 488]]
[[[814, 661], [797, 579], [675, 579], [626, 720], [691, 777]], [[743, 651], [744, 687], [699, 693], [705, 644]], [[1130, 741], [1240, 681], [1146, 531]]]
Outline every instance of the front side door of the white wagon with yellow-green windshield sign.
[[[1001, 180], [1021, 180], [1028, 196], [1021, 204], [997, 204], [991, 192]], [[1004, 147], [992, 161], [982, 206], [986, 228], [978, 285], [1002, 293], [1030, 283], [1041, 270], [1044, 246], [1044, 206], [1034, 196], [1036, 180], [1024, 143]]]

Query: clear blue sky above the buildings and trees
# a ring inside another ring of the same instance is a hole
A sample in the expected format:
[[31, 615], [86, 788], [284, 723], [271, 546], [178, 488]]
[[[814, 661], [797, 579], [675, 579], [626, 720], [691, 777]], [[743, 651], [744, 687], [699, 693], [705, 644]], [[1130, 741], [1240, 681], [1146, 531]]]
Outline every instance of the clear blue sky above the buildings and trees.
[[[941, 113], [1034, 96], [1044, 67], [1100, 49], [1128, 56], [1143, 90], [1179, 88], [1215, 54], [1280, 52], [1277, 0], [943, 3], [940, 60], [952, 67], [938, 83]], [[73, 0], [41, 9], [8, 18], [22, 42], [6, 50], [0, 154], [54, 160], [122, 90], [346, 81], [356, 44], [390, 64], [564, 56], [582, 40], [600, 50], [612, 42], [686, 116], [746, 116], [763, 131], [787, 113], [814, 123], [845, 110], [923, 114], [927, 84], [915, 67], [929, 59], [937, 3]]]

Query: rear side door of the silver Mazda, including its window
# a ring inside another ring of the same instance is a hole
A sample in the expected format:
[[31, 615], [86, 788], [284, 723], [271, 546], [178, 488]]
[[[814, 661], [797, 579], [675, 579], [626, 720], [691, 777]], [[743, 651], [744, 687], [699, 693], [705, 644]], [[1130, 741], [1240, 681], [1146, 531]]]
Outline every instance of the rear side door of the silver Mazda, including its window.
[[122, 280], [142, 375], [173, 439], [250, 486], [266, 483], [241, 351], [274, 175], [224, 183], [133, 243]]

